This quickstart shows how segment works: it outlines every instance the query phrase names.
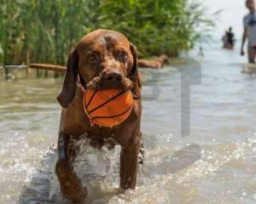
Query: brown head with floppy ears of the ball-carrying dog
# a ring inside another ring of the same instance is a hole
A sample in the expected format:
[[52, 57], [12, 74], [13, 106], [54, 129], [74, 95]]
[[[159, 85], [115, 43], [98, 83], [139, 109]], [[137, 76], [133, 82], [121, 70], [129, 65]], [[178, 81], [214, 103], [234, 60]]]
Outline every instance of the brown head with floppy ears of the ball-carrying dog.
[[66, 77], [57, 97], [64, 108], [73, 100], [78, 76], [91, 88], [131, 88], [134, 97], [140, 97], [137, 49], [117, 31], [90, 32], [69, 54]]

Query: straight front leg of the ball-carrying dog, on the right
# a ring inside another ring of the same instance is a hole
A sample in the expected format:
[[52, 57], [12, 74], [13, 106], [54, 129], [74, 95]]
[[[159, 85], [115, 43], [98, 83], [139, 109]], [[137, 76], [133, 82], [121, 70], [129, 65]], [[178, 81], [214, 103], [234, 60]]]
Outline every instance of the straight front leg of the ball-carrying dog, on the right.
[[135, 189], [137, 180], [137, 160], [140, 149], [139, 137], [122, 146], [120, 155], [120, 189]]

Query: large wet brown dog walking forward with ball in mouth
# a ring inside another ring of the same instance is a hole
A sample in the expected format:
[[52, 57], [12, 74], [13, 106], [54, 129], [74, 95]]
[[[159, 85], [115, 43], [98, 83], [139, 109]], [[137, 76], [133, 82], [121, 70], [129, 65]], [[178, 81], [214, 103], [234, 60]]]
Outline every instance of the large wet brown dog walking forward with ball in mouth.
[[[131, 115], [116, 127], [91, 126], [84, 113], [84, 88], [131, 88], [134, 97]], [[86, 188], [73, 171], [77, 148], [72, 141], [85, 135], [92, 145], [120, 144], [120, 184], [122, 190], [134, 189], [137, 180], [138, 152], [142, 146], [140, 121], [142, 113], [141, 81], [137, 71], [137, 50], [117, 32], [97, 30], [82, 38], [69, 54], [67, 73], [61, 94], [63, 107], [58, 139], [58, 161], [55, 173], [61, 193], [70, 203], [85, 203]]]

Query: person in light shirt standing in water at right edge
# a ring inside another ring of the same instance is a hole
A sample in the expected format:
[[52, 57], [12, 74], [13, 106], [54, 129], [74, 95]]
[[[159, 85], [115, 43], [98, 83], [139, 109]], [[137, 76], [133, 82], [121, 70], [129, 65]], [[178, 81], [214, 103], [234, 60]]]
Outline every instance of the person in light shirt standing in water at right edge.
[[246, 6], [249, 10], [243, 19], [244, 31], [241, 42], [241, 55], [245, 54], [244, 45], [248, 38], [248, 59], [249, 63], [255, 64], [256, 57], [256, 14], [255, 14], [255, 1], [247, 0]]

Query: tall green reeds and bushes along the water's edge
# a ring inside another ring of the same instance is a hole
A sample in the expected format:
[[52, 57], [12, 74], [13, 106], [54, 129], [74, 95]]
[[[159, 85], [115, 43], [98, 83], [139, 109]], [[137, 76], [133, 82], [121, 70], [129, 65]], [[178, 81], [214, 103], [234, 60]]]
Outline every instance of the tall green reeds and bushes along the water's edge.
[[0, 0], [0, 64], [65, 64], [84, 34], [123, 32], [140, 56], [176, 55], [212, 26], [189, 0]]

